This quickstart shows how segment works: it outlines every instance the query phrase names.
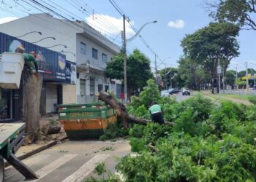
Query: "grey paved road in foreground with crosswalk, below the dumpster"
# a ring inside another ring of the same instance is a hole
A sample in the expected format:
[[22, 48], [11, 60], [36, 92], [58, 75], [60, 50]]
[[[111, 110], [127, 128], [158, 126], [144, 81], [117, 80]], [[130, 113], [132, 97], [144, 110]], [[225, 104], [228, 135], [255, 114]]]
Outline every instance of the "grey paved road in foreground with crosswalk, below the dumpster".
[[[129, 141], [67, 141], [36, 154], [23, 162], [39, 175], [39, 182], [83, 181], [93, 175], [98, 162], [115, 171], [116, 157], [129, 154]], [[23, 175], [7, 167], [5, 182], [24, 181]]]

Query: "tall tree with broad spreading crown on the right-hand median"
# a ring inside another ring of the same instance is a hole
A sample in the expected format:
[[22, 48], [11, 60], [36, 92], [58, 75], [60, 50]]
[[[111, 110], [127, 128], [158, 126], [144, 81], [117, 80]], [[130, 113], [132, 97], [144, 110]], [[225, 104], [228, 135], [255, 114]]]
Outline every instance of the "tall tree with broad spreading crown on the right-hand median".
[[232, 23], [210, 23], [182, 39], [184, 56], [203, 66], [211, 78], [217, 76], [219, 59], [225, 75], [230, 60], [239, 55], [238, 32], [239, 27]]

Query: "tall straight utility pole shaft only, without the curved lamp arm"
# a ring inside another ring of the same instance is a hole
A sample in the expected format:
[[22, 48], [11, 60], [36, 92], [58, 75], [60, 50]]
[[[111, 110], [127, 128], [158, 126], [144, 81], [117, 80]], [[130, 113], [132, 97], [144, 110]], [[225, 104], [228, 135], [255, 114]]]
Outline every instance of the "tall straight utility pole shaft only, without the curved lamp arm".
[[125, 36], [125, 15], [124, 20], [124, 32], [123, 32], [123, 52], [124, 52], [124, 102], [127, 103], [127, 41]]

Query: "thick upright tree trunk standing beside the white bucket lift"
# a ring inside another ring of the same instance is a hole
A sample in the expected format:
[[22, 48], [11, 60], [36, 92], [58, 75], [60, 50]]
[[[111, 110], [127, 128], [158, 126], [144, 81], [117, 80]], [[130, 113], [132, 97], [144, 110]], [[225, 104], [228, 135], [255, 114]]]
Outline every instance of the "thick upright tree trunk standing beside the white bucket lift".
[[39, 138], [39, 103], [42, 76], [23, 70], [23, 121], [26, 122], [26, 137], [31, 142]]

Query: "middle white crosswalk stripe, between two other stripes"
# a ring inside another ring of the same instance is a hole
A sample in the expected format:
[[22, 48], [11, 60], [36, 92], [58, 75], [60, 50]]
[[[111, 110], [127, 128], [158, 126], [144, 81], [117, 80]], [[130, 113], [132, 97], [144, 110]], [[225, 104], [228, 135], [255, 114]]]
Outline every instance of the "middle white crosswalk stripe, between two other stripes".
[[[73, 159], [76, 157], [78, 154], [66, 154], [59, 159], [56, 159], [55, 161], [51, 162], [49, 165], [45, 165], [45, 167], [42, 167], [41, 169], [36, 171], [36, 174], [39, 175], [39, 178], [36, 180], [30, 180], [26, 182], [35, 182], [39, 181], [39, 179], [45, 177], [45, 175], [48, 175], [51, 173], [53, 170], [56, 170], [58, 167], [61, 165], [64, 165], [66, 162], [69, 162], [69, 160]], [[25, 180], [24, 180], [25, 181]]]

